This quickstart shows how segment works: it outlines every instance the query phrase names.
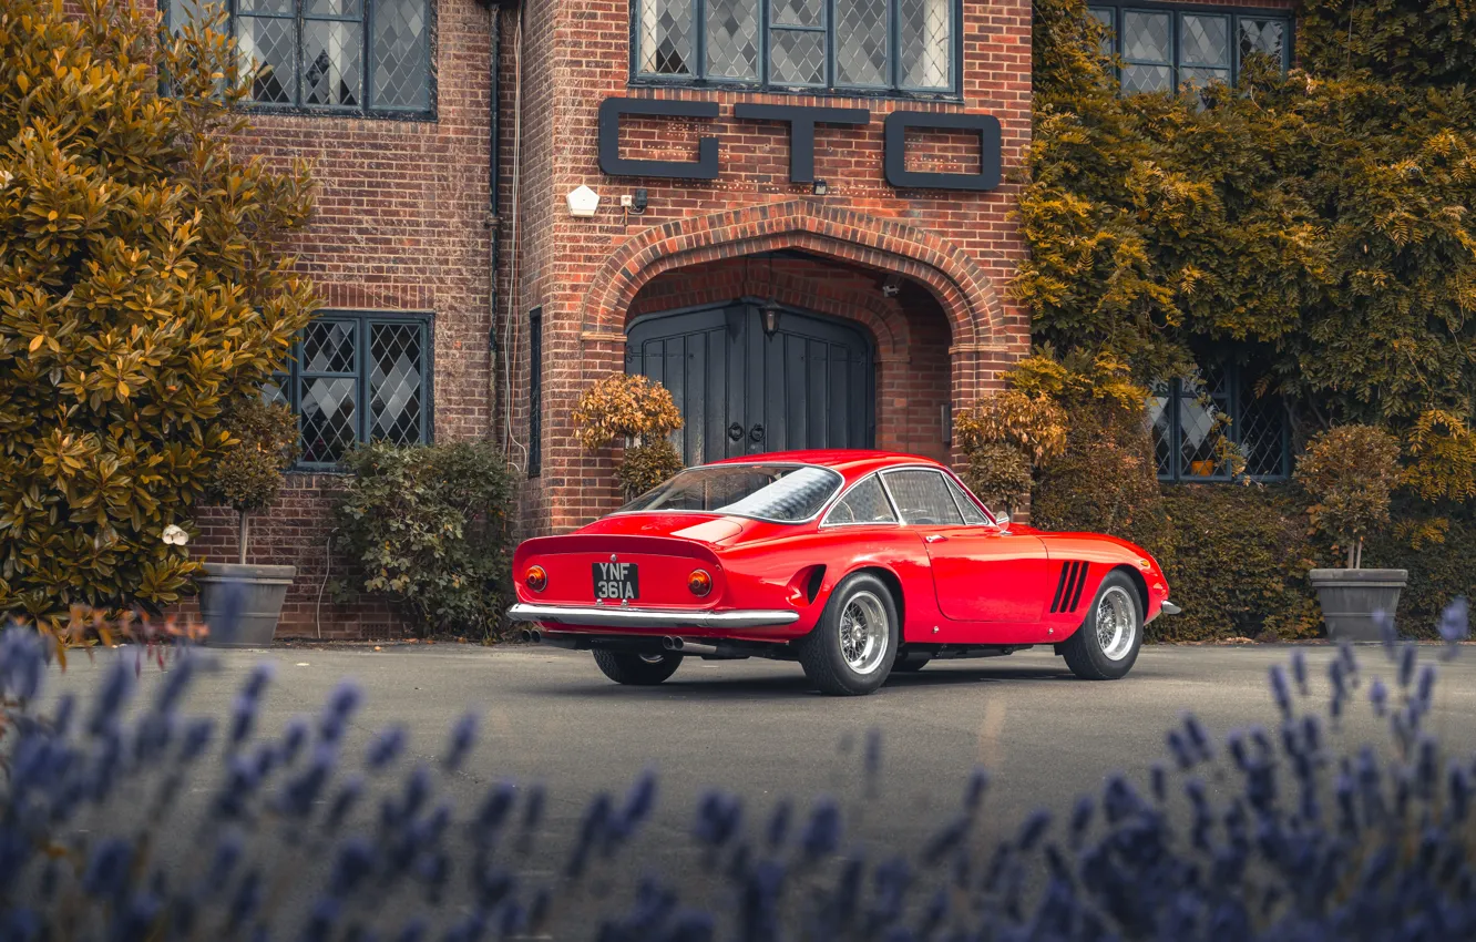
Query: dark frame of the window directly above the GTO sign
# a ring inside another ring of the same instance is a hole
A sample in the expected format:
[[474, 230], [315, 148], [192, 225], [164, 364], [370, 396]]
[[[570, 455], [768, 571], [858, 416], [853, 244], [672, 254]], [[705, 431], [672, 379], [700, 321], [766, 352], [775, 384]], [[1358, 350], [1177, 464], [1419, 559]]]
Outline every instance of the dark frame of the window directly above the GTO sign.
[[[707, 71], [707, 4], [711, 0], [691, 0], [694, 9], [692, 58], [695, 68], [689, 75], [663, 75], [641, 71], [641, 3], [630, 0], [630, 87], [646, 89], [713, 89], [713, 90], [742, 90], [769, 92], [788, 94], [810, 94], [816, 97], [883, 97], [930, 102], [961, 102], [964, 84], [964, 0], [948, 0], [952, 13], [952, 34], [949, 35], [949, 84], [946, 89], [914, 89], [900, 81], [900, 0], [887, 0], [887, 71], [890, 81], [886, 86], [849, 86], [835, 81], [835, 1], [822, 0], [824, 27], [773, 27], [773, 0], [759, 0], [759, 78], [708, 78]], [[825, 34], [825, 83], [824, 84], [784, 84], [769, 80], [770, 32], [778, 30], [794, 30]]]

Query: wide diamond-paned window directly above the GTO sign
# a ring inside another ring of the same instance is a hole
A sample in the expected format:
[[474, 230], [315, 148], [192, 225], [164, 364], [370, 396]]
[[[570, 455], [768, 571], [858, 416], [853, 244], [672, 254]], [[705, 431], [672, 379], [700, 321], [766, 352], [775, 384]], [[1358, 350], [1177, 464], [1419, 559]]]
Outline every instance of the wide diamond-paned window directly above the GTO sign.
[[635, 0], [641, 81], [952, 93], [959, 0]]

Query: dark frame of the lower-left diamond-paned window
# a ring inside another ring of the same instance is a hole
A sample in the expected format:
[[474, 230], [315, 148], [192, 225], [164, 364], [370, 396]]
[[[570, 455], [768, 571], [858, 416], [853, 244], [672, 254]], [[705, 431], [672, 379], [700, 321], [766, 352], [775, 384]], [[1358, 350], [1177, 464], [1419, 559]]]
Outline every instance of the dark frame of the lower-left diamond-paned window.
[[[292, 343], [292, 357], [288, 372], [277, 374], [277, 388], [282, 400], [292, 409], [298, 419], [298, 433], [303, 428], [303, 384], [304, 381], [320, 378], [353, 378], [354, 379], [354, 441], [365, 444], [369, 441], [369, 337], [375, 325], [415, 323], [421, 328], [421, 422], [418, 444], [431, 444], [435, 440], [435, 314], [431, 312], [366, 312], [366, 310], [320, 310], [313, 316], [313, 322], [353, 322], [354, 323], [354, 371], [353, 372], [322, 372], [306, 371], [301, 363], [301, 344], [298, 337]], [[342, 470], [337, 461], [303, 461], [292, 464], [292, 471], [307, 474], [335, 472]]]

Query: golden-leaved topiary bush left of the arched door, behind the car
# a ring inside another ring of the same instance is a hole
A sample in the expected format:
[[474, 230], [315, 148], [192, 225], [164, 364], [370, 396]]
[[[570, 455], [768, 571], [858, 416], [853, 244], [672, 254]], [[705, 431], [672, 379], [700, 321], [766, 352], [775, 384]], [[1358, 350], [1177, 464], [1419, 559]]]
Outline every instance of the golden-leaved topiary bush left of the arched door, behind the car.
[[636, 498], [682, 470], [669, 436], [682, 427], [672, 393], [646, 377], [611, 374], [584, 390], [574, 408], [580, 443], [598, 452], [617, 439], [626, 446], [615, 480]]

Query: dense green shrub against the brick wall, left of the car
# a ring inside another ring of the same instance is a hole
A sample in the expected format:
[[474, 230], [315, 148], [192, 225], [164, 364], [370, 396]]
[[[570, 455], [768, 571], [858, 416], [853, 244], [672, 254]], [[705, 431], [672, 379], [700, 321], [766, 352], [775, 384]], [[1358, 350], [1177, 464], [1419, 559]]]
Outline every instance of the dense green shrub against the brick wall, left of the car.
[[353, 588], [394, 595], [422, 632], [492, 635], [509, 601], [514, 474], [487, 441], [350, 453], [334, 542]]

